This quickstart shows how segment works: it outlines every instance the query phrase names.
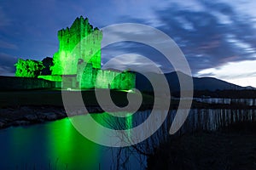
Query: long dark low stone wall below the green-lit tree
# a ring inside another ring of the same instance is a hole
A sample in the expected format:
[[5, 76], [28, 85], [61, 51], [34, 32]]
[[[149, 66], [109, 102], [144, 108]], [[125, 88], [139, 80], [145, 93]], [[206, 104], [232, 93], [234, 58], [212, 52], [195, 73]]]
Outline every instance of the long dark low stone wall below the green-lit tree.
[[0, 90], [3, 91], [35, 88], [61, 88], [61, 83], [30, 77], [0, 77]]

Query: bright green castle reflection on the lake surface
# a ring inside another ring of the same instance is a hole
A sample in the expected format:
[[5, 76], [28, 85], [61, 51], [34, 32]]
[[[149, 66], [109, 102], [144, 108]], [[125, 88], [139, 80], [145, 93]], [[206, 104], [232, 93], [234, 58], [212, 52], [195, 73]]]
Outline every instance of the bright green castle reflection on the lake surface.
[[101, 147], [78, 133], [68, 118], [51, 124], [48, 143], [52, 168], [98, 168]]

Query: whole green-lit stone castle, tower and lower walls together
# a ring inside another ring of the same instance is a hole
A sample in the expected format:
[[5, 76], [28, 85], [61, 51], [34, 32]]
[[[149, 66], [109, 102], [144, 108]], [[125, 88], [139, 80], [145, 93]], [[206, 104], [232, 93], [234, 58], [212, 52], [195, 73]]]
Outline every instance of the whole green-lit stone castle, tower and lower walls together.
[[102, 31], [93, 28], [87, 18], [81, 16], [70, 28], [58, 31], [58, 39], [60, 47], [53, 56], [51, 74], [38, 78], [62, 82], [62, 88], [135, 88], [131, 71], [101, 69]]

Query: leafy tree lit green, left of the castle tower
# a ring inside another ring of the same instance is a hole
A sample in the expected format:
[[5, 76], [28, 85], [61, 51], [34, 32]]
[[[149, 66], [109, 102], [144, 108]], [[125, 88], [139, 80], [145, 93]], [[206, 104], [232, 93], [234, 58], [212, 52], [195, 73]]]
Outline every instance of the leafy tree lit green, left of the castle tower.
[[42, 61], [33, 59], [18, 59], [16, 66], [16, 77], [38, 77], [44, 69]]

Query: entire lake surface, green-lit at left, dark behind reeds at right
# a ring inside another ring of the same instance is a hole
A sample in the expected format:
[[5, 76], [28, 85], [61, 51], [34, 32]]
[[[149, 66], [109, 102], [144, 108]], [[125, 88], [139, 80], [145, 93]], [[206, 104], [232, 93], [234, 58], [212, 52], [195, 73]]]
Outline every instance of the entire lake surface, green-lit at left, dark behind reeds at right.
[[[129, 126], [137, 126], [149, 114], [150, 111], [137, 112], [132, 119], [129, 118]], [[152, 152], [154, 146], [167, 136], [175, 114], [176, 111], [169, 111], [169, 118], [163, 126], [140, 145], [143, 151]], [[102, 116], [106, 118], [108, 114], [93, 115], [96, 120]], [[181, 132], [216, 130], [233, 122], [253, 122], [256, 121], [255, 117], [256, 111], [252, 109], [193, 109]], [[55, 122], [0, 130], [0, 169], [114, 169], [117, 166], [119, 169], [142, 169], [146, 166], [146, 156], [131, 148], [125, 149], [129, 152], [91, 142], [73, 127], [69, 118], [64, 118]]]

